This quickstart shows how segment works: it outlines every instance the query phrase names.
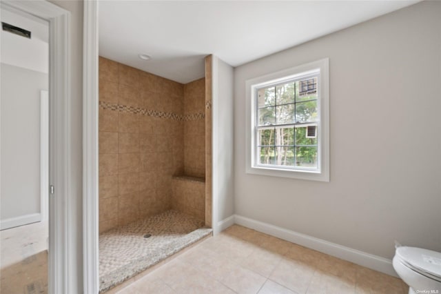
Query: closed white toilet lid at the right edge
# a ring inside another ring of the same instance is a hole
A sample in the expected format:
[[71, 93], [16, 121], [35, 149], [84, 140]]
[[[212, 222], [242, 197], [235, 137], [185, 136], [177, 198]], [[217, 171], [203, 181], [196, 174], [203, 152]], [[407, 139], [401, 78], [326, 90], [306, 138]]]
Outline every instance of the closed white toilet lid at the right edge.
[[441, 253], [416, 247], [401, 246], [396, 255], [421, 271], [441, 277]]

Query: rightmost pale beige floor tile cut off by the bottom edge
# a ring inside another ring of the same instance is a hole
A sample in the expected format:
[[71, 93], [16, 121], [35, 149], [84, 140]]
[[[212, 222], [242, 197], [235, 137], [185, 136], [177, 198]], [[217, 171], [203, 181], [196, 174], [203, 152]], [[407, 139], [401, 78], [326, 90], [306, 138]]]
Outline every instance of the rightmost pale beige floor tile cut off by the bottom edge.
[[342, 280], [327, 272], [316, 271], [307, 294], [353, 294], [354, 290], [355, 282]]

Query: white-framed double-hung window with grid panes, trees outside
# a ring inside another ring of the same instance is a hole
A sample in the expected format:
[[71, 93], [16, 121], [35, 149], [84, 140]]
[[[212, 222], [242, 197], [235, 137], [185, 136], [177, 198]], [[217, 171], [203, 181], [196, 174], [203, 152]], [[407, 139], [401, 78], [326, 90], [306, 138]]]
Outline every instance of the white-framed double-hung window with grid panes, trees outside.
[[328, 64], [247, 81], [247, 173], [329, 182]]

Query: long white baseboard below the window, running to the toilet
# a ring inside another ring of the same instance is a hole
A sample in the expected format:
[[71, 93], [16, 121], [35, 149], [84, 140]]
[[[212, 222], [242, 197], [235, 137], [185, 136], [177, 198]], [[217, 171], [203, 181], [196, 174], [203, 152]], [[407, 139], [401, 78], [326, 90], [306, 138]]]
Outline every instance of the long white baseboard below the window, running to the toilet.
[[345, 259], [348, 262], [353, 262], [354, 264], [359, 264], [360, 266], [365, 266], [375, 271], [386, 273], [387, 275], [398, 277], [397, 273], [393, 269], [392, 261], [384, 257], [358, 251], [356, 249], [338, 245], [332, 242], [327, 242], [316, 237], [290, 231], [286, 228], [280, 228], [278, 226], [273, 226], [272, 224], [259, 222], [255, 219], [249, 219], [248, 217], [242, 217], [240, 215], [234, 215], [234, 223], [292, 243], [299, 244], [301, 246], [305, 246], [307, 248], [314, 249], [316, 251], [320, 251], [322, 253], [326, 253], [334, 257], [338, 257], [340, 259]]

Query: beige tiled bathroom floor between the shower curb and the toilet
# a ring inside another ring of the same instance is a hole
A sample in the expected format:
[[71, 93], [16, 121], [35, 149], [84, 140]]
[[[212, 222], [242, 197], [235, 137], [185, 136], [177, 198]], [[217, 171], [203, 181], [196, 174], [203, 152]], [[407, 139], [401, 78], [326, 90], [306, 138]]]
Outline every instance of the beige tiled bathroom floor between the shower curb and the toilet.
[[234, 225], [108, 294], [407, 291], [396, 277]]

